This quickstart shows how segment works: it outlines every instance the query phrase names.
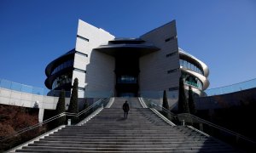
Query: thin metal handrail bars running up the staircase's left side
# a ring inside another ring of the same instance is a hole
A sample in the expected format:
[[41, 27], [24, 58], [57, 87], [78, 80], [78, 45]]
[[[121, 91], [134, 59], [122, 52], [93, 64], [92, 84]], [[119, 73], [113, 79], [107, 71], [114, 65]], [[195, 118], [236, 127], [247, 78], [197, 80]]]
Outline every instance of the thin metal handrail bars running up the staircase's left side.
[[86, 109], [84, 109], [83, 111], [80, 111], [79, 113], [70, 113], [70, 112], [62, 112], [61, 114], [58, 114], [56, 116], [52, 116], [50, 117], [49, 119], [47, 120], [44, 120], [44, 122], [40, 122], [38, 124], [35, 124], [35, 125], [32, 125], [31, 127], [25, 127], [25, 128], [22, 128], [20, 129], [19, 131], [17, 131], [16, 133], [12, 133], [12, 134], [9, 134], [9, 136], [3, 138], [3, 139], [0, 139], [0, 142], [6, 140], [6, 139], [9, 139], [9, 138], [12, 138], [13, 136], [17, 136], [17, 135], [20, 135], [21, 133], [25, 133], [27, 131], [30, 131], [36, 127], [41, 127], [43, 126], [45, 123], [48, 123], [48, 122], [51, 122], [51, 121], [54, 121], [55, 119], [58, 119], [60, 118], [61, 116], [81, 116], [82, 114], [84, 114], [86, 111], [89, 111], [92, 107], [94, 107], [95, 105], [99, 105], [99, 103], [102, 102], [103, 99], [99, 99], [96, 101], [96, 103], [94, 103], [93, 105], [90, 105], [89, 107], [87, 107]]

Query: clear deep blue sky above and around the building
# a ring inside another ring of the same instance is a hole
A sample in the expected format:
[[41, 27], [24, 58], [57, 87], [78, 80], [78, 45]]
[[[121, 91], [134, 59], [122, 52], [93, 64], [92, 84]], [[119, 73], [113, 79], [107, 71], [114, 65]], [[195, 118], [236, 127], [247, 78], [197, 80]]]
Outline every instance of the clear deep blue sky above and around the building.
[[256, 77], [255, 0], [0, 0], [0, 78], [44, 88], [79, 19], [115, 37], [176, 20], [179, 47], [210, 68], [209, 88]]

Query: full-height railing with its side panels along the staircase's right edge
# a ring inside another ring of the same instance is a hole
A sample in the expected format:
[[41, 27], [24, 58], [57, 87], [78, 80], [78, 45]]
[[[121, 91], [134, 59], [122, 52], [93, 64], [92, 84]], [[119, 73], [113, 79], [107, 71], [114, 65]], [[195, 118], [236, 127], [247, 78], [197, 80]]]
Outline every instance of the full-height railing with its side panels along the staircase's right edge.
[[240, 133], [220, 127], [212, 122], [208, 122], [189, 113], [174, 114], [172, 111], [166, 110], [166, 108], [163, 108], [161, 105], [154, 103], [152, 99], [143, 99], [143, 101], [149, 108], [154, 108], [156, 111], [160, 111], [161, 114], [177, 125], [192, 126], [203, 133], [207, 133], [226, 142], [227, 144], [231, 144], [236, 147], [238, 146], [238, 148], [241, 148], [242, 150], [256, 151], [256, 142], [253, 139], [249, 139], [246, 136], [241, 135]]

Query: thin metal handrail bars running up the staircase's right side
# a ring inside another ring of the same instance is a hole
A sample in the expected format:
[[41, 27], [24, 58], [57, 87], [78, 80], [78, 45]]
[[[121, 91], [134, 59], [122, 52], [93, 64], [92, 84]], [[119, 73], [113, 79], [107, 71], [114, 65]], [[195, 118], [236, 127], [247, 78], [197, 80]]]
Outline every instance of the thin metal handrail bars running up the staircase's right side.
[[239, 138], [241, 138], [241, 139], [244, 139], [244, 140], [246, 140], [246, 141], [248, 141], [248, 142], [251, 142], [251, 143], [253, 143], [253, 144], [256, 144], [255, 141], [253, 141], [252, 139], [247, 138], [247, 137], [244, 136], [244, 135], [241, 135], [240, 133], [236, 133], [236, 132], [231, 131], [231, 130], [229, 130], [229, 129], [227, 129], [227, 128], [220, 127], [220, 126], [218, 126], [218, 125], [216, 125], [216, 124], [214, 124], [214, 123], [212, 123], [212, 122], [208, 122], [208, 121], [206, 121], [206, 120], [204, 120], [204, 119], [201, 119], [201, 118], [198, 117], [198, 116], [194, 116], [194, 115], [189, 114], [189, 113], [174, 114], [174, 113], [172, 113], [172, 111], [167, 110], [166, 108], [162, 107], [161, 105], [155, 104], [155, 103], [152, 102], [152, 101], [150, 101], [150, 103], [151, 103], [152, 105], [155, 105], [155, 106], [160, 107], [160, 109], [162, 109], [163, 111], [165, 111], [165, 112], [171, 114], [171, 115], [174, 116], [174, 117], [178, 117], [178, 116], [192, 117], [193, 119], [195, 119], [195, 120], [197, 120], [197, 121], [199, 121], [199, 122], [203, 122], [203, 123], [209, 125], [210, 127], [218, 128], [219, 130], [224, 131], [225, 133], [230, 133], [231, 135], [234, 135], [234, 136], [236, 136], [236, 137], [239, 136]]

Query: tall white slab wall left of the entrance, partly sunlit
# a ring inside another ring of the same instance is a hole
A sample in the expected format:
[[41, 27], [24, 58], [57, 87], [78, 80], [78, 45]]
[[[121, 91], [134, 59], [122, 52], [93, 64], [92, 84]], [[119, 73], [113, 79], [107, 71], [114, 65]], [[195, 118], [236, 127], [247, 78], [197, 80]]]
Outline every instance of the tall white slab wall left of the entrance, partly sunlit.
[[107, 44], [113, 38], [107, 31], [79, 20], [73, 80], [77, 77], [79, 87], [85, 88], [85, 91], [113, 90], [114, 59], [93, 50], [102, 44]]

